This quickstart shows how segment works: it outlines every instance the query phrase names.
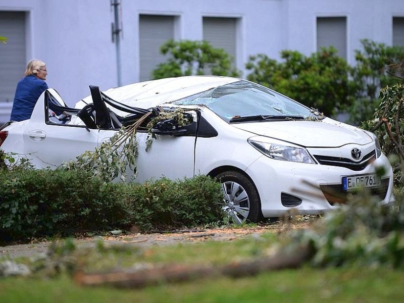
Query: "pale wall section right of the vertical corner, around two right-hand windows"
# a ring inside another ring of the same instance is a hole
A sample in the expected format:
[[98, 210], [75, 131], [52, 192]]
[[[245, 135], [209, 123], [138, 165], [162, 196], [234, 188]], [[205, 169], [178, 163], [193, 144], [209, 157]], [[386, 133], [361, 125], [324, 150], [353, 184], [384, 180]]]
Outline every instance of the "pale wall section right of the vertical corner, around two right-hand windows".
[[404, 16], [404, 1], [394, 0], [285, 0], [288, 33], [284, 48], [310, 55], [316, 51], [316, 18], [347, 18], [347, 61], [355, 64], [361, 39], [392, 43], [392, 17]]

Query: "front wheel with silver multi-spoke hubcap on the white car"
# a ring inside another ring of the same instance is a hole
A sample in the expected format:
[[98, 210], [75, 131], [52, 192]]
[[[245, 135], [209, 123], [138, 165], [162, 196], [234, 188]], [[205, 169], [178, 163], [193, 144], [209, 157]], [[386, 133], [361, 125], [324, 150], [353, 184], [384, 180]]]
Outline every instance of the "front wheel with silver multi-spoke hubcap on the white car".
[[223, 210], [232, 223], [257, 223], [261, 220], [261, 201], [254, 183], [236, 171], [225, 171], [216, 176], [222, 183]]

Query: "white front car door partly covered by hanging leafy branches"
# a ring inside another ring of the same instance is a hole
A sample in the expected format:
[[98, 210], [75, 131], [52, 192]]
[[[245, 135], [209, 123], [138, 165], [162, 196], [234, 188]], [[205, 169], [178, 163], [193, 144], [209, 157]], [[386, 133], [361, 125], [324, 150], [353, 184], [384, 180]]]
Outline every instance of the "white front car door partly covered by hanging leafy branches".
[[[138, 157], [136, 160], [136, 182], [159, 179], [163, 176], [175, 180], [194, 175], [194, 146], [196, 140], [196, 113], [192, 113], [194, 122], [186, 134], [156, 134], [146, 151], [147, 132], [137, 131]], [[99, 132], [99, 143], [114, 134], [109, 130]], [[131, 172], [127, 171], [128, 176]]]

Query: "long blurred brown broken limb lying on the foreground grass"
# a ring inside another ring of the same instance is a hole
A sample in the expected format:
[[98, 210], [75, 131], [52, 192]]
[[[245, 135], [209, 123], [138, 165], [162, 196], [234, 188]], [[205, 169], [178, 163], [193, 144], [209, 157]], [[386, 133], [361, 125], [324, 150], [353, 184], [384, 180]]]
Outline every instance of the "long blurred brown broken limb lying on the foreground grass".
[[110, 273], [77, 272], [74, 279], [82, 286], [114, 286], [119, 288], [141, 288], [161, 283], [191, 281], [206, 277], [239, 278], [257, 275], [271, 270], [297, 268], [306, 263], [313, 255], [309, 245], [300, 245], [286, 253], [279, 250], [274, 256], [261, 257], [252, 261], [233, 262], [224, 266], [168, 265], [137, 271]]

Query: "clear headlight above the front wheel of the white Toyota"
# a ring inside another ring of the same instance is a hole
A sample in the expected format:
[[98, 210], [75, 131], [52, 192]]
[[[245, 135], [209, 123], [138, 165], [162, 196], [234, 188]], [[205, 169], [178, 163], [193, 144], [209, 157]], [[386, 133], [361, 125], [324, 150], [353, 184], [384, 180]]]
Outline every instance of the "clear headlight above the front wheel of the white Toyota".
[[248, 143], [257, 148], [265, 156], [281, 161], [315, 164], [305, 148], [280, 143], [257, 140], [256, 137], [248, 139]]

